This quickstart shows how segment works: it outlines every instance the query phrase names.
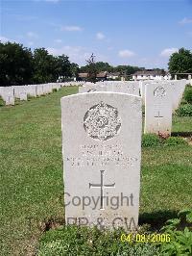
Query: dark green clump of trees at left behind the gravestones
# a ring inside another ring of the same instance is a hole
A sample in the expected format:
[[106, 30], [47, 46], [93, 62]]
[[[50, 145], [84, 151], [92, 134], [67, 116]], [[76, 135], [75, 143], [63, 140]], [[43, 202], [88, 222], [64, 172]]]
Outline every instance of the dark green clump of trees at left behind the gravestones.
[[31, 49], [18, 43], [0, 42], [1, 86], [56, 82], [76, 75], [78, 64], [65, 55], [53, 56], [45, 48]]

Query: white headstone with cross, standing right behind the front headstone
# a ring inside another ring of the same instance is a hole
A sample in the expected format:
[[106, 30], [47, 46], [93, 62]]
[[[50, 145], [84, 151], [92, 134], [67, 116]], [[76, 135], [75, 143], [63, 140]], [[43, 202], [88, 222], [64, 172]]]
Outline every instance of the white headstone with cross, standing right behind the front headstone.
[[145, 87], [144, 133], [169, 136], [172, 127], [172, 89], [157, 83]]

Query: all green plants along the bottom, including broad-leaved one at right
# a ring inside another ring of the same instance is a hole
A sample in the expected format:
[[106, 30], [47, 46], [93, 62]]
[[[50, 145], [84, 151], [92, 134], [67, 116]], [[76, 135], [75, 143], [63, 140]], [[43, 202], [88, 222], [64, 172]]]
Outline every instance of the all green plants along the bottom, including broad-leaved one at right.
[[46, 255], [191, 255], [192, 210], [182, 210], [161, 228], [170, 236], [166, 243], [121, 242], [123, 229], [101, 231], [81, 226], [63, 226], [49, 230], [40, 239], [38, 256]]

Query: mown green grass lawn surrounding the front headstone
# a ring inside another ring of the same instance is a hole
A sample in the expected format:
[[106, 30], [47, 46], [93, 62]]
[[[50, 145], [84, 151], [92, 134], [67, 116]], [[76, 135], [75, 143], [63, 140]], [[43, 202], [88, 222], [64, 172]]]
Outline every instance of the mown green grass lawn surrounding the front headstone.
[[[60, 97], [76, 92], [0, 107], [0, 255], [33, 255], [42, 233], [63, 223]], [[142, 147], [139, 224], [149, 230], [191, 208], [192, 118], [174, 116], [172, 132], [186, 143]]]

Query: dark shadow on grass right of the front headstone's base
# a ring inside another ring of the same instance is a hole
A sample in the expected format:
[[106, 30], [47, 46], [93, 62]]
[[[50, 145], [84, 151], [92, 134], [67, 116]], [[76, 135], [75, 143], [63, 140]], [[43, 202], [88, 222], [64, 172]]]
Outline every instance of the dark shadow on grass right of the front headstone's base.
[[179, 211], [156, 211], [153, 213], [143, 213], [139, 215], [139, 225], [149, 224], [153, 231], [159, 230], [165, 222], [171, 218], [178, 218]]

